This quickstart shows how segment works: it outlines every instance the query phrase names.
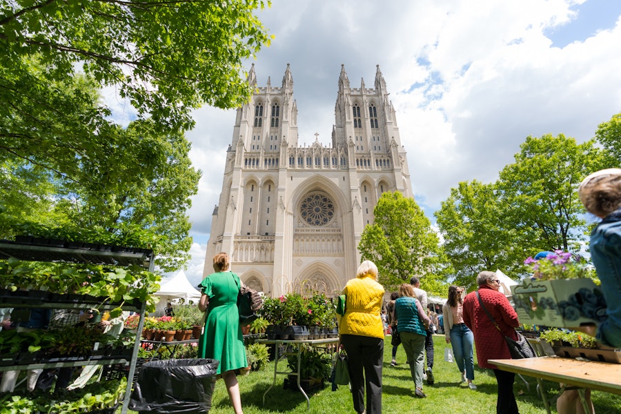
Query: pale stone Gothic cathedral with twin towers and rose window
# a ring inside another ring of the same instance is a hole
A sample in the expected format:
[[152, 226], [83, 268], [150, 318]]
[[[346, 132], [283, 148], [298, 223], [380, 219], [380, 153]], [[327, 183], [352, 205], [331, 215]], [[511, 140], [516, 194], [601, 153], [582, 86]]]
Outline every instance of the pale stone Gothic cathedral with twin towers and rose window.
[[231, 270], [270, 297], [333, 296], [360, 263], [357, 250], [385, 191], [413, 197], [395, 109], [377, 66], [375, 88], [339, 76], [332, 144], [297, 144], [297, 105], [289, 65], [282, 87], [257, 88], [237, 110], [224, 182], [213, 212], [204, 276], [226, 252]]

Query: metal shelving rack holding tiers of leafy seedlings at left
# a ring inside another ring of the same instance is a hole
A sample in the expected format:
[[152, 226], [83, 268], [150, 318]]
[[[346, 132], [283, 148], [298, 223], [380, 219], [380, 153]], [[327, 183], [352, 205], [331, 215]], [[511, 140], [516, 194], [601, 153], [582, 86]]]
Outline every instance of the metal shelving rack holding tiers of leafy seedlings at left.
[[[62, 242], [62, 241], [60, 241]], [[41, 245], [41, 244], [23, 244], [18, 242], [10, 242], [8, 240], [0, 240], [0, 259], [9, 259], [14, 257], [19, 260], [27, 260], [31, 262], [66, 262], [75, 264], [103, 264], [108, 266], [132, 266], [138, 265], [147, 268], [150, 272], [155, 268], [155, 255], [152, 250], [121, 248], [117, 246], [92, 246], [86, 248], [81, 245], [78, 247], [66, 247], [60, 245]], [[116, 250], [116, 251], [112, 251]], [[14, 302], [11, 302], [13, 300]], [[28, 297], [14, 297], [14, 299], [4, 298], [3, 304], [10, 304], [12, 308], [68, 308], [68, 309], [88, 309], [92, 304], [68, 303], [68, 302], [43, 302], [39, 299]], [[109, 311], [117, 308], [119, 304], [110, 304], [102, 300], [97, 305], [102, 311]], [[9, 306], [7, 306], [9, 307]], [[123, 407], [121, 414], [128, 411], [130, 395], [132, 391], [132, 378], [136, 371], [136, 362], [138, 356], [138, 348], [140, 347], [140, 335], [144, 326], [144, 314], [146, 304], [124, 304], [121, 306], [126, 311], [139, 311], [140, 318], [135, 337], [135, 344], [132, 351], [132, 357], [129, 361], [130, 370], [128, 373], [127, 388], [124, 395]], [[28, 365], [12, 365], [0, 366], [0, 371], [9, 371], [15, 368], [59, 368], [63, 366], [84, 366], [84, 365], [104, 365], [119, 364], [128, 362], [127, 359], [96, 359], [83, 360], [79, 362], [51, 362], [46, 364], [28, 364]]]

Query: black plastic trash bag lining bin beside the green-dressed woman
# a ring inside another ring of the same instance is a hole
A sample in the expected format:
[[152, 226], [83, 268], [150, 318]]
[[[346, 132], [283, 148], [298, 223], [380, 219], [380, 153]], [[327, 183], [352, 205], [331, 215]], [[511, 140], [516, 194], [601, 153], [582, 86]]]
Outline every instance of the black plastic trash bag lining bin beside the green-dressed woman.
[[139, 413], [208, 413], [218, 364], [215, 359], [146, 362], [129, 408]]

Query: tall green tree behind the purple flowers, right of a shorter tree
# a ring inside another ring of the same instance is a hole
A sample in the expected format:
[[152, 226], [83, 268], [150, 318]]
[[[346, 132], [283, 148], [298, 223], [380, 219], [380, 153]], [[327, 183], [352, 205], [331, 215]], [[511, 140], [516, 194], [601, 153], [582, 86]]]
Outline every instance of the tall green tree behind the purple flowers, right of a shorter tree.
[[578, 184], [601, 162], [593, 141], [578, 144], [562, 134], [526, 138], [498, 183], [506, 226], [526, 235], [519, 239], [524, 257], [540, 250], [580, 250], [586, 224]]

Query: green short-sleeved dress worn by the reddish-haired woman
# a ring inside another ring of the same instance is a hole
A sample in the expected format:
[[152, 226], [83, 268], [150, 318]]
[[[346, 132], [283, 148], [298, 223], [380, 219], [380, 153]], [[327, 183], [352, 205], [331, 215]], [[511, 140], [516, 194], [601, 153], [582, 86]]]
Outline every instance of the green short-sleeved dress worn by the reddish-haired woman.
[[199, 357], [217, 359], [218, 374], [248, 366], [237, 311], [241, 286], [233, 272], [212, 273], [199, 285], [201, 293], [209, 297], [205, 328], [199, 339]]

